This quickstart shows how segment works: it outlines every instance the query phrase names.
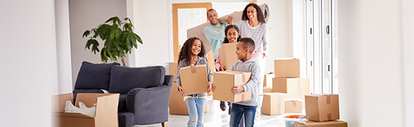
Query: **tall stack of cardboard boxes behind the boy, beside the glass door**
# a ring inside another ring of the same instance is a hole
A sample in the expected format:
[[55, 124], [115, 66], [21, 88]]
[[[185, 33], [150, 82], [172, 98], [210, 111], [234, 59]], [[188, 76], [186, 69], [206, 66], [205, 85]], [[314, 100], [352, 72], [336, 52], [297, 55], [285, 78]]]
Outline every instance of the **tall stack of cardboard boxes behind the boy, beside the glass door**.
[[[302, 114], [304, 95], [309, 95], [309, 78], [300, 76], [300, 59], [275, 59], [274, 63], [275, 72], [265, 74], [266, 85], [264, 85], [261, 112], [268, 115]], [[266, 90], [270, 89], [268, 78], [272, 75], [274, 75], [271, 87], [273, 93], [266, 93]]]

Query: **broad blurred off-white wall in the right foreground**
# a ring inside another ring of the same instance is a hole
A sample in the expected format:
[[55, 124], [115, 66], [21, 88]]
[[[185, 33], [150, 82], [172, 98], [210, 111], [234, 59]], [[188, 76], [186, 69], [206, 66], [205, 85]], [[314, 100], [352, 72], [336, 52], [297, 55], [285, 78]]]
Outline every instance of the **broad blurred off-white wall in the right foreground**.
[[338, 1], [340, 111], [348, 126], [404, 124], [400, 8], [401, 1]]

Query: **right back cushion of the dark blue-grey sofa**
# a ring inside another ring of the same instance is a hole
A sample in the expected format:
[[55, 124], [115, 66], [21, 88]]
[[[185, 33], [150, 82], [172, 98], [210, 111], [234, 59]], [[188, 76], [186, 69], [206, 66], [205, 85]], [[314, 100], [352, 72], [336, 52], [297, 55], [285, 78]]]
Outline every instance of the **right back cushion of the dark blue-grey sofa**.
[[165, 68], [162, 66], [113, 66], [110, 93], [127, 94], [136, 87], [158, 87], [164, 83], [164, 78]]

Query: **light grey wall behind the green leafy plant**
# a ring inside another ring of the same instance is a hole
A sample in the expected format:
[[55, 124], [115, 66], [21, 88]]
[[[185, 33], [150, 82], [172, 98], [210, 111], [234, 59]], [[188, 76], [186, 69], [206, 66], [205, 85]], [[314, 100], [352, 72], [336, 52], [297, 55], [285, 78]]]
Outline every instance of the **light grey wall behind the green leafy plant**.
[[[97, 28], [97, 25], [105, 23], [113, 16], [118, 16], [121, 20], [126, 17], [126, 0], [70, 0], [69, 1], [69, 20], [71, 29], [71, 64], [72, 64], [72, 84], [76, 83], [79, 68], [82, 61], [92, 63], [102, 63], [100, 52], [93, 54], [89, 49], [85, 49], [88, 37], [82, 38], [85, 30]], [[98, 40], [99, 41], [99, 40]], [[100, 48], [104, 42], [100, 42]], [[112, 62], [112, 61], [108, 61]], [[125, 63], [129, 63], [126, 59]]]

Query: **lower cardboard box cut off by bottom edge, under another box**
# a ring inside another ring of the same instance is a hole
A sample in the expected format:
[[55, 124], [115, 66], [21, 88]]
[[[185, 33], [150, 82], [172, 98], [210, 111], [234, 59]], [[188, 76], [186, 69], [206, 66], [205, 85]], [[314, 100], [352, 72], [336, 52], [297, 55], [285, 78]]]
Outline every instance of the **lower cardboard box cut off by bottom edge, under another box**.
[[336, 121], [296, 121], [295, 127], [348, 127], [348, 123], [341, 120]]

